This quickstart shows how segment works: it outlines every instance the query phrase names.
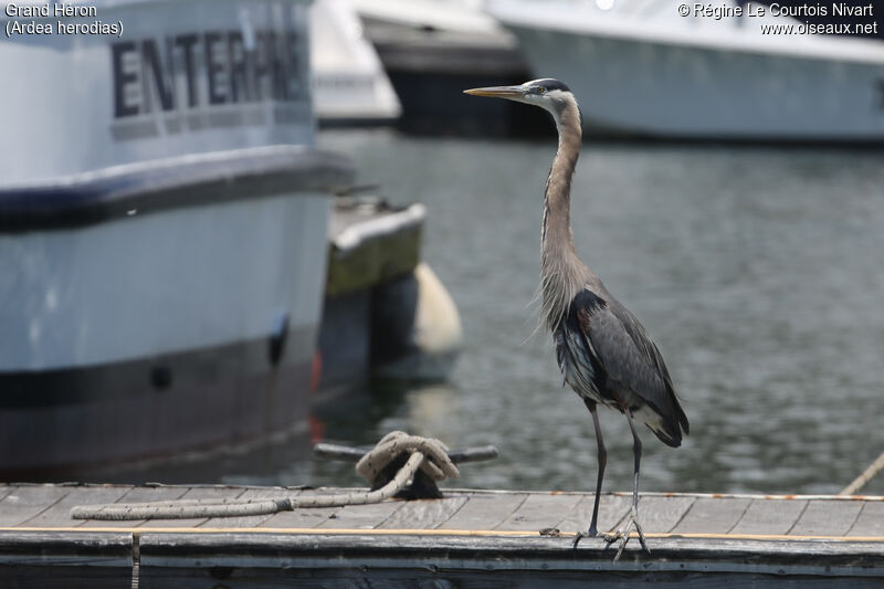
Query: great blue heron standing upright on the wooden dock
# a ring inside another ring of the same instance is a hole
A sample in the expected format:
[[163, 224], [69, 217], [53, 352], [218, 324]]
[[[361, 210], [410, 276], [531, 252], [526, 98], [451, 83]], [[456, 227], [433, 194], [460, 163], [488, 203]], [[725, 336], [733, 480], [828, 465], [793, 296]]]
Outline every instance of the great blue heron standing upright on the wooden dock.
[[556, 122], [559, 146], [546, 181], [540, 233], [543, 315], [552, 332], [556, 358], [565, 381], [592, 414], [599, 452], [592, 519], [589, 529], [577, 535], [575, 546], [582, 537], [600, 536], [597, 522], [607, 452], [596, 408], [602, 404], [627, 416], [632, 431], [634, 482], [632, 508], [627, 522], [619, 530], [601, 536], [609, 546], [620, 539], [615, 560], [633, 529], [642, 548], [648, 550], [638, 522], [642, 442], [634, 420], [648, 425], [664, 444], [673, 448], [681, 445], [682, 430], [687, 434], [690, 425], [678, 404], [663, 356], [642, 324], [577, 257], [571, 234], [570, 200], [571, 177], [582, 138], [580, 107], [568, 86], [552, 78], [534, 80], [520, 86], [464, 92], [533, 104], [548, 111]]

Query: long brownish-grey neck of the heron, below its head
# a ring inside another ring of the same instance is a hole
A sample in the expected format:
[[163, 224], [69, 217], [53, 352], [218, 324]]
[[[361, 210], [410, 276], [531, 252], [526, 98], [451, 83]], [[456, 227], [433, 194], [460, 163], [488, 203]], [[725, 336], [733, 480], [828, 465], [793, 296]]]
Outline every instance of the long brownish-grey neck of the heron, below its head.
[[582, 138], [577, 103], [570, 101], [556, 123], [559, 147], [544, 194], [540, 263], [544, 318], [554, 330], [567, 314], [571, 299], [583, 287], [587, 272], [577, 257], [571, 234], [571, 177]]

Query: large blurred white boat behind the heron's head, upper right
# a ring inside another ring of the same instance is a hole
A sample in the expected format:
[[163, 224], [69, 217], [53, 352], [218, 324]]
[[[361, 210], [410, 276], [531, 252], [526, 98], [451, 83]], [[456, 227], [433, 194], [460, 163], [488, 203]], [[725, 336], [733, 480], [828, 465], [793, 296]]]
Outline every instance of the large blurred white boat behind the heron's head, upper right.
[[494, 0], [487, 10], [518, 38], [536, 77], [571, 87], [596, 132], [884, 139], [880, 41], [799, 34], [802, 22], [770, 9], [737, 17], [723, 3], [732, 11], [716, 19], [683, 6], [687, 17], [677, 3], [644, 0]]

